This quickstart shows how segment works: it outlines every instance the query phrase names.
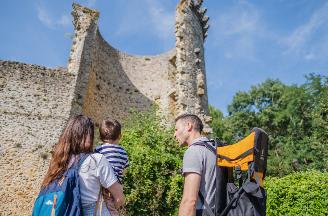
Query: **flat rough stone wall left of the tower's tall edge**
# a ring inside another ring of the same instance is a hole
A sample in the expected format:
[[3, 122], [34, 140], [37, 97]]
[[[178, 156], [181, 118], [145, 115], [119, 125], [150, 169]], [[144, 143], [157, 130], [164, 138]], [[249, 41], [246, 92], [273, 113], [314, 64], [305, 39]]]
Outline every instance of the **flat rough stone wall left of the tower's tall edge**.
[[74, 75], [0, 61], [0, 215], [31, 215], [72, 107]]

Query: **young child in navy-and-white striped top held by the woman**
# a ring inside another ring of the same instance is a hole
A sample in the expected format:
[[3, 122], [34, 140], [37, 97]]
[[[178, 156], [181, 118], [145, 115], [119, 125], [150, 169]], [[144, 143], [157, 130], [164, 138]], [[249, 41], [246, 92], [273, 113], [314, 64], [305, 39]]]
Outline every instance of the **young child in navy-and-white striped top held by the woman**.
[[[130, 166], [126, 151], [118, 144], [122, 138], [121, 124], [115, 119], [105, 119], [99, 125], [99, 139], [104, 142], [98, 145], [94, 152], [103, 154], [112, 165], [117, 181], [122, 187], [122, 177], [126, 173], [126, 168]], [[106, 189], [106, 206], [111, 216], [118, 216], [118, 211], [114, 206], [113, 196]]]

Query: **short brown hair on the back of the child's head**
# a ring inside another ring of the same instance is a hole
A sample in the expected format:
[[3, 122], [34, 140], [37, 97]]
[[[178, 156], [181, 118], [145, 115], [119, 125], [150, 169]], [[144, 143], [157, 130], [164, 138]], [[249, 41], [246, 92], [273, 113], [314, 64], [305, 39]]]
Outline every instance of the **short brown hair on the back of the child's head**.
[[99, 125], [99, 134], [103, 141], [117, 140], [121, 132], [121, 124], [116, 119], [105, 119]]

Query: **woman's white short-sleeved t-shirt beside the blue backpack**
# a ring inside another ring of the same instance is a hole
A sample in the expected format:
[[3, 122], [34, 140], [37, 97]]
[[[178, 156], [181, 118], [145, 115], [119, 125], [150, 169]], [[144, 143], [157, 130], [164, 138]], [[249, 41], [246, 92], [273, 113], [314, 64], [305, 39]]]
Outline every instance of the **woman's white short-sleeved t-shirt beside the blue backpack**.
[[[75, 162], [74, 155], [72, 155], [68, 167], [73, 162]], [[108, 188], [117, 181], [111, 164], [102, 154], [88, 156], [77, 172], [79, 173], [82, 206], [97, 202], [100, 185]]]

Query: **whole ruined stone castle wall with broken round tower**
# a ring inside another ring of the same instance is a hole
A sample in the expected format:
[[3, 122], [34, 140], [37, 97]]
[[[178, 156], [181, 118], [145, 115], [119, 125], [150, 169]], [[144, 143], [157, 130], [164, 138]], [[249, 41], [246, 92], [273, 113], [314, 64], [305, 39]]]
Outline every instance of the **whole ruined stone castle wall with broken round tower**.
[[203, 42], [207, 36], [202, 0], [175, 8], [175, 47], [137, 56], [110, 46], [98, 30], [99, 11], [73, 3], [75, 34], [68, 68], [49, 69], [0, 62], [0, 215], [31, 215], [51, 152], [67, 121], [83, 113], [125, 120], [130, 108], [153, 102], [170, 121], [194, 113], [209, 136], [211, 118]]

